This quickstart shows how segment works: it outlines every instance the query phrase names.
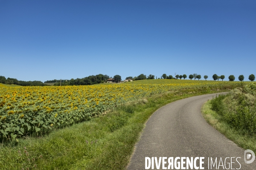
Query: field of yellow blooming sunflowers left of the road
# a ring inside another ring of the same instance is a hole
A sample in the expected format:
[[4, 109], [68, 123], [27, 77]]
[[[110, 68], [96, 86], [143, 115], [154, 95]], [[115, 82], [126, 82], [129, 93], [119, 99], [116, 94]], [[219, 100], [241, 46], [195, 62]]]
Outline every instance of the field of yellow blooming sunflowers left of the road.
[[154, 94], [238, 83], [0, 87], [0, 139], [42, 135]]

